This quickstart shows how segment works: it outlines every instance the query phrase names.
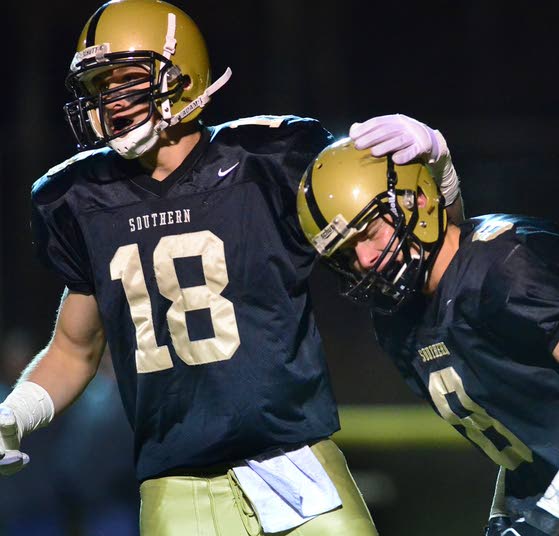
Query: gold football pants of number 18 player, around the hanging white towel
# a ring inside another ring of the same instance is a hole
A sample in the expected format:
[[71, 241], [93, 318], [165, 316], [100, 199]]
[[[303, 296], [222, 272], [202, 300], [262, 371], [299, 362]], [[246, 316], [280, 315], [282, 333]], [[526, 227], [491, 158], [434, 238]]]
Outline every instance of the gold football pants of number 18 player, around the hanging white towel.
[[[378, 536], [344, 455], [331, 440], [311, 447], [342, 499], [342, 506], [274, 536]], [[263, 536], [233, 470], [169, 476], [140, 486], [142, 536]]]

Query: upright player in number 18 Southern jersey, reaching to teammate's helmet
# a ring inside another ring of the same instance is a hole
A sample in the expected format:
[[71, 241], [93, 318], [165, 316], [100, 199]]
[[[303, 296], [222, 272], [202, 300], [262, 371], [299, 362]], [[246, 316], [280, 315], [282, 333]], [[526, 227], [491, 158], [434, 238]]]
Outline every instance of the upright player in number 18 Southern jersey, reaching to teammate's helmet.
[[[66, 80], [79, 152], [32, 190], [38, 254], [66, 290], [50, 343], [0, 405], [0, 473], [29, 461], [21, 438], [80, 395], [108, 341], [142, 533], [375, 535], [329, 439], [316, 254], [296, 212], [332, 136], [295, 116], [202, 125], [230, 75], [211, 82], [202, 35], [169, 3], [115, 0], [87, 21]], [[440, 133], [404, 116], [366, 128], [459, 193]]]

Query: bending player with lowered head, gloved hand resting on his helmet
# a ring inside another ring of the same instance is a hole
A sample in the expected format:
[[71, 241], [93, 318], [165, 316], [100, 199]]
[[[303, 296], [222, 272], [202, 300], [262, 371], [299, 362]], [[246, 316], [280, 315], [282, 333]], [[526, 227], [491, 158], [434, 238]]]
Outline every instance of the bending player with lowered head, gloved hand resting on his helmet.
[[414, 391], [501, 467], [487, 534], [558, 535], [559, 227], [448, 222], [427, 166], [376, 158], [361, 135], [304, 174], [305, 235], [342, 293], [370, 304]]

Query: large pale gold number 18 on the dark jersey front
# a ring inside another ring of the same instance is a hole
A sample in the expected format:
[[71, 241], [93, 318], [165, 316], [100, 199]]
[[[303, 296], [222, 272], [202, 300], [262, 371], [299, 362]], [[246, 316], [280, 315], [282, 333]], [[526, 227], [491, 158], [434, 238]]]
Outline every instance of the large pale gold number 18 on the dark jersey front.
[[[175, 259], [200, 256], [206, 282], [182, 288]], [[161, 238], [153, 252], [153, 266], [159, 292], [171, 301], [167, 324], [175, 352], [187, 365], [202, 365], [231, 359], [240, 345], [233, 304], [221, 293], [229, 283], [223, 241], [210, 231]], [[138, 244], [117, 249], [110, 263], [111, 278], [120, 279], [136, 329], [138, 373], [172, 368], [167, 346], [158, 346], [152, 304], [146, 286]], [[209, 309], [214, 336], [193, 341], [186, 314]]]

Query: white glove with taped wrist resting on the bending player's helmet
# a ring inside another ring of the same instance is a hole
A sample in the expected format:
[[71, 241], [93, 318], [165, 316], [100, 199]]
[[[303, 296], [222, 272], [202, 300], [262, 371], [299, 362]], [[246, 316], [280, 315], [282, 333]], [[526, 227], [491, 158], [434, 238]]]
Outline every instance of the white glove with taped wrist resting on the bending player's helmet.
[[370, 149], [376, 157], [392, 153], [395, 164], [419, 160], [427, 164], [450, 205], [460, 193], [458, 175], [438, 130], [402, 114], [381, 115], [354, 123], [349, 135], [357, 149]]

